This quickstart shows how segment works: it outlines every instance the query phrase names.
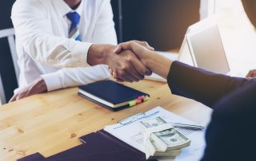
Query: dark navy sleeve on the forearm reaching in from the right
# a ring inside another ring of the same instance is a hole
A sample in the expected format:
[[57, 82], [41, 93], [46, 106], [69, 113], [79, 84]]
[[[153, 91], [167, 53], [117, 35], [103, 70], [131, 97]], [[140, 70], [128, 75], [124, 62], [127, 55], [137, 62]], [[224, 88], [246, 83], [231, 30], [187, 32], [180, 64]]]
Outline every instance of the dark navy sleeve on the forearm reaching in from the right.
[[247, 80], [211, 73], [174, 61], [170, 66], [167, 82], [174, 95], [196, 100], [212, 108], [222, 96], [242, 87]]

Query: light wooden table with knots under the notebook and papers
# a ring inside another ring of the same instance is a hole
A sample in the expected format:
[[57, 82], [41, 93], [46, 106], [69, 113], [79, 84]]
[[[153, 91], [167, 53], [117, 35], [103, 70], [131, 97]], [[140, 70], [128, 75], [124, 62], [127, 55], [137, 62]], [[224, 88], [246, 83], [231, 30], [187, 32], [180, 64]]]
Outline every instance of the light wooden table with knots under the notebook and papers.
[[122, 84], [149, 93], [150, 100], [112, 112], [78, 96], [78, 88], [66, 88], [0, 106], [0, 160], [15, 160], [35, 152], [45, 157], [54, 155], [81, 144], [77, 138], [82, 135], [157, 106], [203, 126], [210, 120], [210, 108], [172, 95], [164, 82]]

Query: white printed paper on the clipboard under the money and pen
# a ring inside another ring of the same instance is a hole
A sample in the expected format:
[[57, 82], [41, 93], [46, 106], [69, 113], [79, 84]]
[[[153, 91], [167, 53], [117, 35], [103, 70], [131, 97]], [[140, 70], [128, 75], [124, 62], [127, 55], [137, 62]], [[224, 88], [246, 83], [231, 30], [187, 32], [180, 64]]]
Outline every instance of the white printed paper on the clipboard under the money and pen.
[[[178, 116], [172, 112], [169, 112], [161, 107], [153, 108], [148, 112], [145, 112], [146, 116], [140, 119], [134, 119], [130, 124], [114, 124], [106, 126], [104, 130], [114, 135], [118, 139], [130, 144], [130, 146], [137, 148], [139, 151], [145, 152], [143, 136], [141, 128], [138, 126], [138, 122], [141, 120], [148, 120], [157, 116], [161, 116], [168, 123], [180, 123], [180, 124], [194, 124], [193, 121], [187, 120], [182, 116]], [[198, 161], [202, 158], [204, 149], [206, 147], [204, 135], [205, 131], [194, 131], [186, 128], [177, 128], [180, 132], [191, 139], [189, 147], [182, 149], [182, 154], [178, 155], [175, 161]], [[172, 159], [173, 160], [173, 159]]]

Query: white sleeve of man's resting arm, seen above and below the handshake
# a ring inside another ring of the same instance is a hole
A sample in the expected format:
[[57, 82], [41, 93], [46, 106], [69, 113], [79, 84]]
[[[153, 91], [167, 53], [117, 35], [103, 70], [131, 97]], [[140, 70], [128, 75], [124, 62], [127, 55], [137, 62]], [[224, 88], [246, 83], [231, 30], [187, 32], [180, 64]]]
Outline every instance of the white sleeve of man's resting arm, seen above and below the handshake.
[[[93, 43], [117, 45], [110, 1], [102, 1], [101, 7], [100, 17], [94, 28]], [[44, 74], [42, 77], [46, 81], [49, 92], [58, 88], [74, 87], [94, 81], [102, 81], [110, 78], [111, 75], [107, 65], [96, 65], [87, 68], [60, 69], [56, 73]]]

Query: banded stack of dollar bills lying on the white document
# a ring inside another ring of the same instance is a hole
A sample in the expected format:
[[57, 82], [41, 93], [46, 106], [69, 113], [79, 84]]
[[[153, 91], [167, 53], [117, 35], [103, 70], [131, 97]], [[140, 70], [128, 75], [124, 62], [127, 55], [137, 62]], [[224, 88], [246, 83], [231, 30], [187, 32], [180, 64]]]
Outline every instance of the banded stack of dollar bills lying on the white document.
[[191, 140], [170, 124], [168, 129], [160, 132], [150, 132], [150, 128], [155, 131], [163, 126], [166, 127], [164, 124], [168, 124], [160, 116], [140, 121], [138, 124], [142, 128], [146, 159], [175, 159], [177, 155], [182, 153], [183, 147], [190, 146]]

